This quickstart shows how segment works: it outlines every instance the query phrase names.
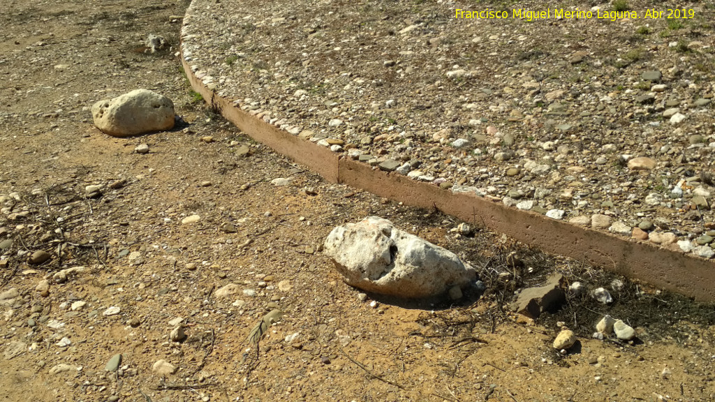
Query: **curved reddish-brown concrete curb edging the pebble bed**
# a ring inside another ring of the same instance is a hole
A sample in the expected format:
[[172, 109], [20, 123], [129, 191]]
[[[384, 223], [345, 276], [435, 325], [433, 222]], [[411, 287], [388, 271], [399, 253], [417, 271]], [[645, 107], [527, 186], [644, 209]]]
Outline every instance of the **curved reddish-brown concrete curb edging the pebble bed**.
[[[189, 10], [191, 7], [189, 6]], [[186, 19], [184, 19], [186, 21]], [[340, 158], [330, 149], [312, 144], [269, 124], [240, 108], [240, 103], [217, 95], [196, 77], [184, 57], [182, 64], [194, 91], [256, 141], [317, 172], [325, 180], [361, 188], [415, 207], [438, 208], [467, 222], [504, 233], [548, 253], [586, 260], [629, 278], [637, 278], [697, 300], [715, 301], [715, 263], [676, 253], [650, 243], [632, 242], [614, 235], [552, 220], [535, 212], [506, 207], [475, 193], [440, 190], [397, 173]]]

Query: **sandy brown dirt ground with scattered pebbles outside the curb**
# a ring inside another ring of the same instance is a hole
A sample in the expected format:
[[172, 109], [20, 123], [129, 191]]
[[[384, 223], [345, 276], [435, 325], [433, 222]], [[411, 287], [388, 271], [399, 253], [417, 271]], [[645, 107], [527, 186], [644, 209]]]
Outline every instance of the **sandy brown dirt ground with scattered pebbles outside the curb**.
[[[458, 237], [451, 217], [327, 183], [237, 132], [179, 68], [187, 5], [19, 0], [0, 11], [1, 401], [715, 398], [711, 306], [624, 280], [611, 305], [570, 297], [520, 318], [514, 291], [550, 273], [588, 288], [613, 278], [478, 227]], [[148, 34], [173, 49], [145, 53]], [[176, 129], [99, 132], [89, 107], [137, 88], [173, 99]], [[189, 215], [200, 219], [182, 224]], [[369, 215], [472, 263], [483, 298], [360, 300], [320, 250], [335, 225]], [[27, 263], [39, 250], [50, 259]], [[217, 297], [229, 283], [239, 293]], [[256, 350], [247, 336], [274, 308], [285, 314]], [[636, 341], [591, 338], [603, 313]], [[179, 325], [186, 338], [174, 342]], [[551, 345], [563, 325], [578, 334], [566, 354]], [[119, 369], [105, 370], [117, 354]]]

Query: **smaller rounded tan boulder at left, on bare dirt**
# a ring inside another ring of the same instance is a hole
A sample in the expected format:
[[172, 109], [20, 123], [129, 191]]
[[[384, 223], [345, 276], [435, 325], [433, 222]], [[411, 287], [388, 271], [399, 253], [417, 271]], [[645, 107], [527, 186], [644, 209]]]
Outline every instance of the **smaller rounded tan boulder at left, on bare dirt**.
[[149, 91], [135, 89], [92, 106], [94, 125], [114, 137], [129, 137], [174, 127], [174, 103]]

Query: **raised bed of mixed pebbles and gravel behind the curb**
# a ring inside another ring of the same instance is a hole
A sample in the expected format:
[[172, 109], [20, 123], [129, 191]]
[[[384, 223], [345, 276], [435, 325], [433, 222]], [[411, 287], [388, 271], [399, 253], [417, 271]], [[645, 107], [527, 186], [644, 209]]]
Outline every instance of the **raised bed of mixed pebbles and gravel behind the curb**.
[[[375, 169], [712, 258], [715, 9], [627, 6], [194, 0], [182, 52], [217, 94]], [[509, 18], [455, 17], [487, 8]]]

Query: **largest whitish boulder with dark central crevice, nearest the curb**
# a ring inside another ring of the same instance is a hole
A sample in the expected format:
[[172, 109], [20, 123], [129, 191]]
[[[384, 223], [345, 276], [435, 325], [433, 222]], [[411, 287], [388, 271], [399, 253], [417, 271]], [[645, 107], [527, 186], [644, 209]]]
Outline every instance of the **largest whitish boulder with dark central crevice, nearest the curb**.
[[381, 217], [335, 227], [324, 250], [345, 283], [383, 295], [423, 298], [477, 279], [474, 268], [454, 253]]

